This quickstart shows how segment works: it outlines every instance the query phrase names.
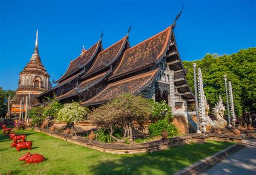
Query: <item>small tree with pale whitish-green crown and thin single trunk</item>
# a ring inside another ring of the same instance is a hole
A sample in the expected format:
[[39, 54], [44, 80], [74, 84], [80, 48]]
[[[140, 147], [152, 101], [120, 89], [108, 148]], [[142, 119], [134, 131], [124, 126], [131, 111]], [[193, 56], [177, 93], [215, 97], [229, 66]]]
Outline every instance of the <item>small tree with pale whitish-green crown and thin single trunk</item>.
[[57, 120], [68, 122], [68, 125], [71, 123], [77, 136], [74, 123], [85, 120], [89, 111], [89, 108], [80, 106], [78, 102], [65, 103], [64, 107], [58, 111]]

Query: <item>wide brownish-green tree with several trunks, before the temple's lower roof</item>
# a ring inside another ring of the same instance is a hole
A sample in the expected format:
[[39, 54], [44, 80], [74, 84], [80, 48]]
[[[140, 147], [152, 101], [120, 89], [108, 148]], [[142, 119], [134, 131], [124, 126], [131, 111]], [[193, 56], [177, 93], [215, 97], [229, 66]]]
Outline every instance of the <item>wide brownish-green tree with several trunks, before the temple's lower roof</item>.
[[[141, 124], [148, 120], [151, 110], [152, 106], [149, 100], [142, 96], [124, 94], [96, 108], [89, 117], [94, 124], [109, 129], [113, 139], [124, 142], [126, 138], [132, 138], [132, 123]], [[112, 135], [114, 128], [118, 127], [124, 129], [123, 139], [118, 139]]]

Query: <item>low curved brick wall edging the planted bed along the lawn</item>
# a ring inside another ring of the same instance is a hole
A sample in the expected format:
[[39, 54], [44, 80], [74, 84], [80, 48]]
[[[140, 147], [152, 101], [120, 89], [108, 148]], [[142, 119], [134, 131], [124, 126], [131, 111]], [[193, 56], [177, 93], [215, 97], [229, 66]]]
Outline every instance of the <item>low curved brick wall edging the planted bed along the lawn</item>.
[[[183, 145], [191, 142], [204, 142], [206, 139], [209, 139], [209, 138], [211, 139], [211, 137], [208, 137], [208, 135], [193, 134], [193, 135], [186, 135], [181, 137], [159, 139], [156, 141], [146, 142], [146, 143], [131, 143], [131, 144], [102, 143], [96, 140], [90, 141], [86, 137], [67, 135], [67, 134], [63, 134], [57, 131], [51, 131], [47, 129], [34, 128], [34, 130], [37, 132], [43, 132], [52, 137], [63, 139], [64, 141], [67, 141], [67, 142], [86, 146], [88, 148], [96, 149], [102, 152], [119, 153], [119, 154], [153, 152], [153, 151], [167, 149], [172, 146]], [[231, 141], [231, 140], [227, 139], [225, 141]]]

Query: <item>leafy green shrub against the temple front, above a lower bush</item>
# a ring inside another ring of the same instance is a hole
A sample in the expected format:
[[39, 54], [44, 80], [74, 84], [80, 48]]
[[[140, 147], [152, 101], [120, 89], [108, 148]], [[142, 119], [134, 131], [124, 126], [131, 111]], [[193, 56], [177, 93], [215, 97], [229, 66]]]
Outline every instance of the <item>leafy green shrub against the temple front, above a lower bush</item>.
[[166, 118], [168, 121], [173, 119], [172, 108], [165, 103], [165, 101], [156, 102], [150, 100], [152, 110], [151, 110], [151, 121], [156, 122]]

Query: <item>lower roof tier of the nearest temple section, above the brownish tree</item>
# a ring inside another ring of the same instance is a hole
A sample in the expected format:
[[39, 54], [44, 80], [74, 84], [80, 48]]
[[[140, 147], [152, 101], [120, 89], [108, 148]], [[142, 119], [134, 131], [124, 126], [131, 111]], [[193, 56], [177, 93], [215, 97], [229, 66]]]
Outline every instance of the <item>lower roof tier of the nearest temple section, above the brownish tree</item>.
[[142, 90], [151, 85], [158, 72], [159, 69], [155, 69], [151, 72], [131, 76], [130, 78], [110, 83], [98, 95], [92, 97], [92, 99], [82, 102], [82, 105], [89, 106], [100, 104], [125, 93], [138, 95]]

